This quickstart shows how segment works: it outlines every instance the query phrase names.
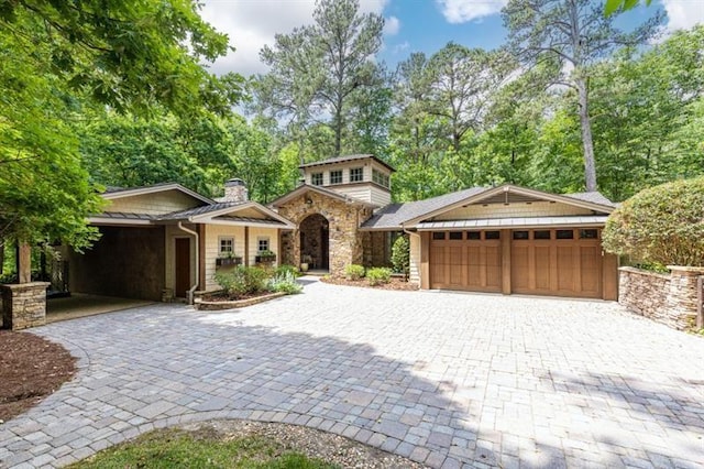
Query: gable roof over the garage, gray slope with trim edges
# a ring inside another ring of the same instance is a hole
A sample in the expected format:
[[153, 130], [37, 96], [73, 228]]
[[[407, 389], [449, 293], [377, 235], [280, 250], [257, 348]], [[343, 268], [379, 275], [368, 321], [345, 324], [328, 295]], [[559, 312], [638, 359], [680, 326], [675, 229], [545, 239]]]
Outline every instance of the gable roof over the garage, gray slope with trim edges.
[[[525, 198], [538, 198], [542, 200], [574, 205], [603, 214], [609, 214], [616, 207], [615, 204], [600, 193], [559, 195], [515, 186], [512, 184], [504, 184], [497, 187], [472, 187], [425, 200], [387, 205], [374, 214], [374, 216], [367, 221], [362, 223], [361, 229], [367, 231], [387, 231], [400, 230], [403, 228], [419, 228], [421, 222], [440, 214], [465, 205], [487, 200], [492, 197], [501, 196], [502, 194], [508, 195], [509, 193]], [[605, 216], [601, 216], [598, 220], [596, 218], [590, 219], [590, 222], [603, 222], [605, 218]], [[543, 221], [540, 221], [539, 223], [543, 225]], [[430, 226], [427, 221], [422, 225], [424, 228]]]

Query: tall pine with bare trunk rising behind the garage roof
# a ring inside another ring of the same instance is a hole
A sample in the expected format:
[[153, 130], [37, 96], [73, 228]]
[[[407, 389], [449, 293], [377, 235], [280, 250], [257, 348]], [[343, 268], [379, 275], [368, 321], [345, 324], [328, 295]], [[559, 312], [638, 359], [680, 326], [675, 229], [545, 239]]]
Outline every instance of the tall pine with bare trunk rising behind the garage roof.
[[596, 190], [596, 164], [590, 116], [590, 65], [618, 46], [644, 44], [657, 33], [660, 13], [626, 34], [592, 0], [510, 0], [503, 10], [509, 47], [527, 67], [557, 59], [551, 83], [576, 94], [586, 190]]

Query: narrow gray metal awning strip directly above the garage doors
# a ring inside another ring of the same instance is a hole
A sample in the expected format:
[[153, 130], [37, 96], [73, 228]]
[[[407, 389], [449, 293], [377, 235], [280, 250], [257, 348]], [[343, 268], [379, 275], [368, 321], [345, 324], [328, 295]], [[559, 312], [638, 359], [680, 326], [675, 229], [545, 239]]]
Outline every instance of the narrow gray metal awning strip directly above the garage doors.
[[475, 220], [444, 220], [426, 221], [418, 223], [418, 230], [459, 230], [482, 228], [531, 228], [531, 227], [576, 227], [601, 226], [606, 222], [607, 216], [578, 216], [578, 217], [519, 217], [519, 218], [491, 218]]

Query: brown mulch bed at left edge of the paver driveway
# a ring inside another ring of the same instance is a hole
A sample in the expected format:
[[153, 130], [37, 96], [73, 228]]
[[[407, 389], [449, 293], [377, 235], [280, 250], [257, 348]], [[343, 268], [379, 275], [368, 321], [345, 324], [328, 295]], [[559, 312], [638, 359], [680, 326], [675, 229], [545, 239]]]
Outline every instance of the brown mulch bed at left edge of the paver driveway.
[[75, 373], [76, 359], [58, 343], [0, 330], [0, 423], [38, 404]]

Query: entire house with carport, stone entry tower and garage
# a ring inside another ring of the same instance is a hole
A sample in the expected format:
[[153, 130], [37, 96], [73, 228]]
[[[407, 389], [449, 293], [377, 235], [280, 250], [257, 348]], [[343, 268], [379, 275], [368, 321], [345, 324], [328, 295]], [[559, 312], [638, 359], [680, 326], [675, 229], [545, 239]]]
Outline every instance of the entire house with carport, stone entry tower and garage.
[[617, 298], [618, 260], [601, 233], [615, 208], [598, 193], [550, 194], [506, 184], [392, 204], [394, 168], [371, 154], [300, 166], [302, 184], [268, 207], [230, 179], [212, 200], [178, 184], [103, 194], [90, 218], [102, 237], [68, 253], [74, 292], [145, 299], [217, 290], [226, 264], [308, 264], [342, 275], [388, 265], [410, 239], [410, 281], [421, 288]]

